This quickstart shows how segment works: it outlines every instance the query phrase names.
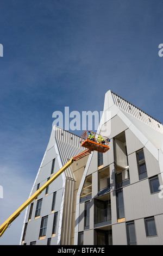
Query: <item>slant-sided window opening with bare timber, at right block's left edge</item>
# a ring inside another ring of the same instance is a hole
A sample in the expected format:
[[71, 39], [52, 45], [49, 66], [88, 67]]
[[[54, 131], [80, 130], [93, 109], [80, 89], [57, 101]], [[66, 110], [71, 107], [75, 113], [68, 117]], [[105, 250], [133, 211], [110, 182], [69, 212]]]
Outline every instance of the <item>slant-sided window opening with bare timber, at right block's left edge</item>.
[[80, 194], [80, 202], [91, 199], [92, 194], [92, 174], [87, 176], [84, 181], [82, 193]]

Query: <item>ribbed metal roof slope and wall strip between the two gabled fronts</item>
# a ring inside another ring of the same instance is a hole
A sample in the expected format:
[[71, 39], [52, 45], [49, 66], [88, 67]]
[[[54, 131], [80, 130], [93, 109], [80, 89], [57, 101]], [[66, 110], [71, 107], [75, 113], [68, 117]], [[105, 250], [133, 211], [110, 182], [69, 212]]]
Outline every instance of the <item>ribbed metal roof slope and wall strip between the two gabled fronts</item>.
[[[55, 141], [60, 154], [62, 164], [64, 165], [71, 157], [76, 156], [84, 149], [81, 147], [81, 138], [71, 132], [55, 127]], [[65, 190], [64, 190], [64, 208], [61, 221], [60, 244], [71, 244], [71, 227], [73, 221], [73, 202], [74, 202], [74, 186], [76, 180], [74, 178], [71, 167], [68, 167], [65, 172]]]

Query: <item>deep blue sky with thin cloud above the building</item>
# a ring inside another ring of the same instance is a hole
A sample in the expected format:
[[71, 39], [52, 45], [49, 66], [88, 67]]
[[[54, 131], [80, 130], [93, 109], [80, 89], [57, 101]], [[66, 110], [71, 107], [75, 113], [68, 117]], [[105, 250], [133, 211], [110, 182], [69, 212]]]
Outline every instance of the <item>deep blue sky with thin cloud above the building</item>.
[[[54, 111], [102, 111], [111, 89], [163, 122], [162, 10], [162, 0], [0, 0], [0, 224], [29, 196]], [[19, 243], [23, 218], [0, 245]]]

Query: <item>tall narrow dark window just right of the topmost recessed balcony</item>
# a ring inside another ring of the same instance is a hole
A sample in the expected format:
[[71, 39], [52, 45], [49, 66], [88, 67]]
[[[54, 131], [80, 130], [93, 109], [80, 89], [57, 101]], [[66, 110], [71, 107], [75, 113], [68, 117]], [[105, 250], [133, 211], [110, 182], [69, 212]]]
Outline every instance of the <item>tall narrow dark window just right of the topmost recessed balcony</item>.
[[137, 151], [136, 156], [137, 156], [139, 179], [142, 180], [147, 178], [147, 169], [146, 169], [145, 155], [144, 155], [143, 149], [140, 151]]

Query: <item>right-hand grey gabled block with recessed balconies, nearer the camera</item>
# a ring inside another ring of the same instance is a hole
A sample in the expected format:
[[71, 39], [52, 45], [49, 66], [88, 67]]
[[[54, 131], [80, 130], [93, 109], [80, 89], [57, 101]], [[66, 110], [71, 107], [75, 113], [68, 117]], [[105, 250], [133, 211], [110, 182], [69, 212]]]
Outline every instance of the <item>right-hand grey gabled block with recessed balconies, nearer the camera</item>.
[[161, 245], [162, 124], [111, 91], [105, 94], [107, 111], [97, 133], [110, 137], [110, 150], [94, 151], [87, 161], [74, 244]]

